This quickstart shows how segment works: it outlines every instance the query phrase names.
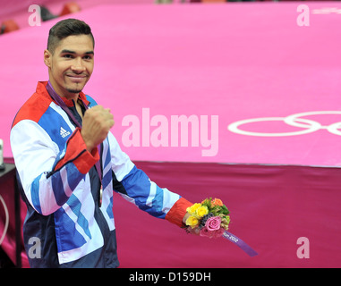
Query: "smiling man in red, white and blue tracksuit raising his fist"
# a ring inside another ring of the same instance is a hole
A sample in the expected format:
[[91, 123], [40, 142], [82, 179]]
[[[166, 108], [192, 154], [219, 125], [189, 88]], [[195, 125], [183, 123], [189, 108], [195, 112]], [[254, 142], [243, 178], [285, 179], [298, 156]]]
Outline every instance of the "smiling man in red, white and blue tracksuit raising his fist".
[[[117, 267], [113, 191], [179, 226], [192, 205], [136, 168], [110, 132], [110, 110], [82, 92], [94, 46], [84, 21], [57, 22], [44, 51], [49, 80], [38, 82], [13, 121], [31, 267]], [[39, 242], [34, 253], [32, 239]]]

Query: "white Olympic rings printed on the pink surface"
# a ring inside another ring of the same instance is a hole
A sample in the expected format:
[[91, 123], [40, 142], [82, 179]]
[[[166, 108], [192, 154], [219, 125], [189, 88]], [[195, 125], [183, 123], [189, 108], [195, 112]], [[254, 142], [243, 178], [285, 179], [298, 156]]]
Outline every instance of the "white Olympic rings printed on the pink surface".
[[[320, 122], [316, 122], [310, 119], [302, 118], [305, 116], [311, 115], [321, 115], [321, 114], [341, 114], [341, 111], [313, 111], [307, 112], [302, 114], [292, 114], [286, 117], [263, 117], [263, 118], [253, 118], [253, 119], [245, 119], [238, 122], [233, 122], [227, 126], [227, 130], [231, 132], [248, 135], [248, 136], [260, 136], [260, 137], [284, 137], [284, 136], [296, 136], [296, 135], [303, 135], [315, 132], [317, 130], [328, 130], [330, 133], [341, 136], [341, 122], [335, 122], [328, 126], [322, 125]], [[247, 123], [254, 123], [254, 122], [273, 122], [273, 121], [280, 121], [285, 122], [286, 124], [301, 128], [303, 130], [297, 130], [293, 132], [252, 132], [247, 130], [242, 130], [240, 127]]]

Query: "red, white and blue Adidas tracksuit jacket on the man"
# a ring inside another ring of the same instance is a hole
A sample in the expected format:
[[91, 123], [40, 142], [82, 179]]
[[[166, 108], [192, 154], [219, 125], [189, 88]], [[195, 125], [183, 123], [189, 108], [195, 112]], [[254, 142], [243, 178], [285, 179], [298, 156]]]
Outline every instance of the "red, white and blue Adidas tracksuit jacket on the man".
[[[192, 204], [150, 181], [111, 132], [99, 150], [88, 152], [81, 129], [46, 86], [47, 81], [38, 82], [11, 130], [21, 197], [28, 208], [23, 236], [30, 267], [117, 267], [113, 190], [141, 210], [182, 226]], [[90, 107], [96, 105], [82, 92], [80, 97]], [[81, 122], [72, 100], [62, 99]], [[95, 167], [98, 160], [101, 181]], [[39, 254], [30, 253], [32, 241], [39, 242]]]

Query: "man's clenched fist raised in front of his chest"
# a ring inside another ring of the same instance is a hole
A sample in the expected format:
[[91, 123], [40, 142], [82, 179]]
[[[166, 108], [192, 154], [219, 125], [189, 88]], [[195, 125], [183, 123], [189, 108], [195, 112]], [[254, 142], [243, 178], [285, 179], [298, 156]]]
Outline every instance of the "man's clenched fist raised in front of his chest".
[[114, 116], [110, 114], [109, 108], [96, 105], [85, 112], [81, 137], [84, 139], [89, 152], [107, 138], [107, 133], [114, 126], [114, 123]]

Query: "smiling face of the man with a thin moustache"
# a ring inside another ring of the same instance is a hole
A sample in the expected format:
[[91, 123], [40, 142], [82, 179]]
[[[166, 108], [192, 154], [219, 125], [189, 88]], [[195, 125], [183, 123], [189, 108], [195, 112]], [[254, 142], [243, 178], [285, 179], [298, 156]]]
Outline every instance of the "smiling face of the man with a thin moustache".
[[62, 39], [52, 55], [44, 52], [49, 80], [55, 92], [76, 99], [90, 80], [94, 67], [94, 47], [88, 35], [69, 36]]

